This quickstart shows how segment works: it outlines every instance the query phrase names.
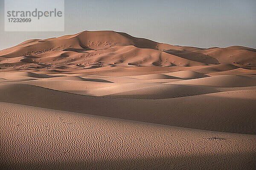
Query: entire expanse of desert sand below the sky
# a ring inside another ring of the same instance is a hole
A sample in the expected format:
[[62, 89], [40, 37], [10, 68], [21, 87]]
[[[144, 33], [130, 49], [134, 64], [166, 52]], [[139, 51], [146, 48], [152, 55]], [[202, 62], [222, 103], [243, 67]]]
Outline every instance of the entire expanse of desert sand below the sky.
[[114, 31], [0, 51], [2, 169], [255, 169], [256, 49]]

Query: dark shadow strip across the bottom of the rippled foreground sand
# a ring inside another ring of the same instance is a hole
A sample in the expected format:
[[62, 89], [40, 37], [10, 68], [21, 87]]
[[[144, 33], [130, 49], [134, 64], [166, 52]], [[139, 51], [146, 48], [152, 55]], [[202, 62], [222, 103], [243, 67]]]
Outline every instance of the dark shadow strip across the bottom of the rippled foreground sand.
[[[43, 155], [43, 153], [39, 153]], [[56, 153], [61, 154], [61, 153]], [[169, 153], [171, 154], [171, 153]], [[56, 160], [54, 155], [49, 155], [52, 162], [38, 160], [37, 163], [15, 163], [0, 159], [2, 170], [255, 170], [256, 152], [248, 153], [191, 153], [186, 156], [181, 153], [169, 156], [140, 156], [135, 158], [122, 158], [115, 155], [113, 158], [84, 158], [67, 157], [65, 153], [61, 161]], [[76, 156], [76, 155], [75, 155]], [[119, 158], [118, 158], [119, 157]], [[42, 157], [44, 159], [44, 157]], [[76, 159], [78, 159], [76, 161]]]

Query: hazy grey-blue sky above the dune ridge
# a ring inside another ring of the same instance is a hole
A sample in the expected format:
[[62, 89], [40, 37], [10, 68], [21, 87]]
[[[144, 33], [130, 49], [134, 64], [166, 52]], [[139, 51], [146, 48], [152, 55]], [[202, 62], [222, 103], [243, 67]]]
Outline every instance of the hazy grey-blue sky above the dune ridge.
[[114, 30], [172, 45], [256, 48], [256, 0], [65, 0], [64, 32], [5, 32], [0, 49], [28, 39]]

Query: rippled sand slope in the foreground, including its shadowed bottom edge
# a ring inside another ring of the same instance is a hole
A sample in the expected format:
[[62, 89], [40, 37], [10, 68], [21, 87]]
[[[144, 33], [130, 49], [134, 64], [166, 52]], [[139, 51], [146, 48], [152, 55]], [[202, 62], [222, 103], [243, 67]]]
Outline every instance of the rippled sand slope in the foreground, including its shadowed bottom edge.
[[[253, 169], [256, 136], [0, 102], [1, 169]], [[38, 159], [40, 158], [40, 159]]]

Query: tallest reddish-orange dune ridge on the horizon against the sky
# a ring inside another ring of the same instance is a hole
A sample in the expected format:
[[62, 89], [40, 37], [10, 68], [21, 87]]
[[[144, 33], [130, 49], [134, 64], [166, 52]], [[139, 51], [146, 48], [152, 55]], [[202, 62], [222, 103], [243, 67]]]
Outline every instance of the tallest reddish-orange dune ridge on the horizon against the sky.
[[219, 63], [256, 65], [256, 50], [253, 48], [181, 47], [114, 31], [83, 31], [58, 38], [29, 40], [0, 51], [0, 57], [0, 67], [17, 69], [65, 69], [67, 64], [71, 64], [72, 68]]

